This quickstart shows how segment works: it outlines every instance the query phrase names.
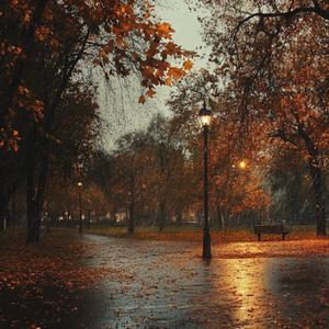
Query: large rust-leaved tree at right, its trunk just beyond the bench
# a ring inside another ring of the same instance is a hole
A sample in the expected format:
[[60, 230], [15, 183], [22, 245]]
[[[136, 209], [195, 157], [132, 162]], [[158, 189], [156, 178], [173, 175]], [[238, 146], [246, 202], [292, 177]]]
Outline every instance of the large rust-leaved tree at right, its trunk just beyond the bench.
[[215, 1], [202, 2], [212, 12], [204, 21], [205, 39], [224, 83], [220, 97], [238, 109], [247, 127], [250, 122], [262, 125], [268, 145], [277, 140], [304, 157], [315, 194], [317, 235], [326, 235], [328, 4], [264, 0], [222, 1], [219, 7]]

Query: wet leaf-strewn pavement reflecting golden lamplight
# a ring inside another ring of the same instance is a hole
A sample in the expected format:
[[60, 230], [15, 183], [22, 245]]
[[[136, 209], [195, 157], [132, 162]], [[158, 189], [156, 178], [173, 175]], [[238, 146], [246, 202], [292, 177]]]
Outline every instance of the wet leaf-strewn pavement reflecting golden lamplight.
[[194, 243], [82, 239], [92, 249], [88, 265], [120, 275], [65, 296], [75, 307], [42, 328], [329, 328], [328, 257], [204, 262]]

